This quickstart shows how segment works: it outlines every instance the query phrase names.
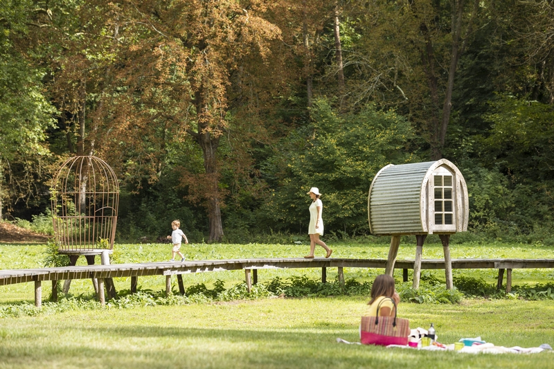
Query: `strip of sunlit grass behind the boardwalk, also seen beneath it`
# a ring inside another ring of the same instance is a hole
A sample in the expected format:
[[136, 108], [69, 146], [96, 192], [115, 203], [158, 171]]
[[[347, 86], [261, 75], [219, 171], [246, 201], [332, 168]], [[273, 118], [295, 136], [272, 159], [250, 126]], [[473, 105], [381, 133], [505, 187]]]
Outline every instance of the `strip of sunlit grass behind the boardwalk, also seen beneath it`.
[[[436, 240], [435, 240], [436, 241]], [[433, 242], [429, 237], [428, 243], [423, 249], [423, 258], [436, 259], [444, 258], [443, 246], [439, 242]], [[367, 244], [357, 242], [330, 243], [334, 253], [333, 258], [382, 258], [386, 259], [388, 255], [388, 244]], [[309, 244], [191, 244], [183, 245], [181, 251], [185, 254], [187, 260], [217, 260], [217, 259], [236, 259], [236, 258], [293, 258], [305, 255], [309, 249]], [[44, 253], [46, 245], [44, 244], [0, 244], [0, 269], [24, 269], [44, 267]], [[169, 244], [115, 244], [114, 255], [112, 255], [112, 264], [118, 263], [139, 263], [139, 262], [161, 262], [167, 261], [171, 255]], [[323, 256], [323, 249], [320, 247], [316, 255]], [[529, 245], [529, 244], [452, 244], [452, 258], [554, 258], [554, 248], [549, 246]], [[415, 257], [415, 246], [411, 243], [401, 243], [398, 251], [398, 259], [413, 259]], [[99, 258], [97, 258], [99, 259]], [[100, 260], [96, 260], [98, 264]], [[86, 264], [84, 258], [80, 258], [78, 264]], [[360, 269], [345, 268], [345, 277], [355, 278], [359, 282], [373, 280], [375, 276], [384, 273], [384, 269]], [[443, 270], [423, 271], [428, 276], [434, 276], [439, 280], [445, 280]], [[469, 276], [472, 278], [482, 278], [490, 285], [496, 285], [497, 270], [494, 269], [464, 269], [454, 270], [454, 277]], [[409, 280], [411, 280], [412, 271], [409, 270]], [[260, 270], [258, 271], [258, 281], [260, 283], [269, 282], [269, 280], [280, 277], [286, 280], [290, 276], [307, 276], [312, 279], [321, 278], [320, 269], [280, 269], [280, 270]], [[330, 268], [327, 271], [328, 280], [337, 278], [337, 269]], [[395, 271], [397, 281], [402, 280], [402, 271]], [[178, 291], [177, 278], [173, 278], [172, 289]], [[244, 281], [243, 271], [220, 271], [211, 273], [197, 273], [184, 276], [186, 286], [204, 283], [208, 287], [213, 286], [213, 282], [222, 280], [225, 287], [229, 288]], [[515, 269], [512, 273], [512, 285], [536, 285], [537, 283], [547, 283], [554, 280], [554, 270], [552, 269]], [[118, 291], [129, 289], [130, 278], [114, 278], [114, 283]], [[165, 277], [150, 276], [139, 278], [139, 289], [165, 291]], [[21, 301], [33, 301], [34, 286], [32, 283], [23, 283], [18, 285], [0, 286], [0, 303], [19, 303]], [[71, 294], [78, 296], [80, 294], [92, 295], [93, 289], [90, 280], [73, 280], [71, 282]], [[51, 293], [51, 287], [44, 283], [43, 294], [48, 296]]]

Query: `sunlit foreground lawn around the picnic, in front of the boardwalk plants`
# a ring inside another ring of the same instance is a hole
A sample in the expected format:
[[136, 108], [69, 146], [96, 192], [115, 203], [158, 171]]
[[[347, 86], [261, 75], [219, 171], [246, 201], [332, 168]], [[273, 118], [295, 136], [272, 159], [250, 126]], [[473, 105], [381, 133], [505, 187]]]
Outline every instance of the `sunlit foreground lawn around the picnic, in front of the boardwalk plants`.
[[[361, 297], [268, 298], [208, 305], [73, 311], [3, 318], [3, 368], [552, 368], [554, 354], [463, 354], [358, 341]], [[551, 301], [401, 304], [411, 327], [510, 347], [553, 342]]]

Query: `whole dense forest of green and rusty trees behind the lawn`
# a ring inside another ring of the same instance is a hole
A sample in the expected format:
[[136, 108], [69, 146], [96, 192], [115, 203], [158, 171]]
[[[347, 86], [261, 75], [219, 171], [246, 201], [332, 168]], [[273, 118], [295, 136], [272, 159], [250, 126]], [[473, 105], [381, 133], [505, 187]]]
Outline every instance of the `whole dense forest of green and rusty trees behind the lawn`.
[[366, 235], [377, 171], [440, 158], [470, 231], [554, 244], [552, 0], [2, 0], [3, 219], [69, 156], [120, 179], [118, 239]]

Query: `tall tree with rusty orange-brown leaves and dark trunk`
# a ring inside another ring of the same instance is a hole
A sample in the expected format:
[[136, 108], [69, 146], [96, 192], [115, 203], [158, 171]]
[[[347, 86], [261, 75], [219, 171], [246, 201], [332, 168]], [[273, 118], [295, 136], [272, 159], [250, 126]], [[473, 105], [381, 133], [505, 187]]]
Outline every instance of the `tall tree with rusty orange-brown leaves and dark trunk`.
[[[260, 0], [123, 1], [118, 7], [118, 22], [126, 25], [118, 74], [125, 93], [116, 97], [111, 145], [146, 138], [163, 149], [172, 136], [192, 138], [202, 150], [204, 172], [185, 177], [190, 199], [203, 201], [209, 240], [220, 240], [226, 191], [220, 186], [218, 150], [234, 109], [250, 107], [245, 101], [259, 102], [249, 87], [261, 77], [251, 60], [268, 64], [271, 42], [280, 37], [279, 28], [266, 19], [271, 7]], [[143, 148], [134, 150], [156, 155]]]

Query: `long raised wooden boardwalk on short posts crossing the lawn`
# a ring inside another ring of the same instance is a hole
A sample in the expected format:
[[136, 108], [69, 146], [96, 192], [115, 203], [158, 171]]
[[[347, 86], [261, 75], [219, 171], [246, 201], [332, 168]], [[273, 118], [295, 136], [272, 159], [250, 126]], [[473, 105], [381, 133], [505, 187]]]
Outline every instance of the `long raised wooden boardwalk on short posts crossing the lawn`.
[[[4, 269], [0, 270], [0, 285], [35, 282], [35, 305], [42, 303], [42, 281], [52, 281], [53, 294], [57, 291], [57, 281], [73, 279], [98, 280], [98, 297], [105, 303], [103, 280], [107, 278], [131, 277], [131, 291], [136, 291], [137, 278], [142, 276], [166, 276], [166, 294], [171, 292], [171, 277], [177, 276], [179, 291], [184, 294], [182, 275], [208, 271], [244, 270], [247, 287], [258, 280], [258, 269], [321, 268], [321, 279], [326, 282], [327, 268], [337, 268], [339, 282], [344, 282], [343, 268], [381, 268], [386, 267], [386, 259], [304, 259], [304, 258], [268, 258], [268, 259], [231, 259], [199, 260], [186, 262], [148, 262], [141, 264], [87, 265], [42, 269]], [[396, 260], [395, 269], [403, 270], [404, 281], [408, 280], [408, 269], [413, 269], [414, 260]], [[452, 259], [452, 269], [499, 269], [498, 287], [501, 288], [506, 270], [506, 291], [511, 290], [512, 269], [554, 268], [554, 259]], [[421, 260], [421, 269], [445, 269], [445, 260]], [[56, 296], [53, 296], [56, 298]]]

